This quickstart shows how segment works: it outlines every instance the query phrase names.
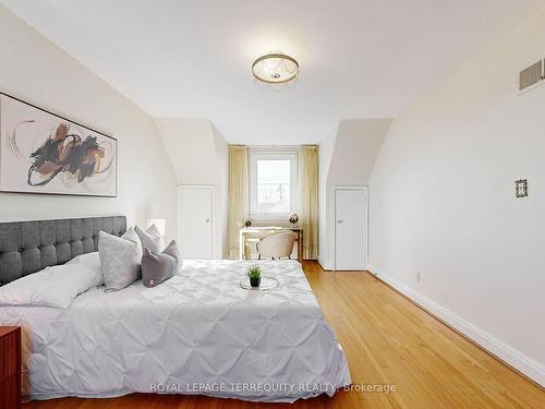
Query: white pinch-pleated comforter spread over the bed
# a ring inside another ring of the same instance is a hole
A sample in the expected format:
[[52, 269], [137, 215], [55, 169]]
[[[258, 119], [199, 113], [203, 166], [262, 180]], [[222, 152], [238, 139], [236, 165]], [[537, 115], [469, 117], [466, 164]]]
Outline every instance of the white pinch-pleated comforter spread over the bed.
[[344, 353], [294, 261], [262, 262], [280, 286], [239, 286], [247, 263], [184, 261], [155, 287], [104, 287], [68, 309], [0, 306], [23, 326], [33, 399], [181, 393], [294, 401], [349, 385]]

